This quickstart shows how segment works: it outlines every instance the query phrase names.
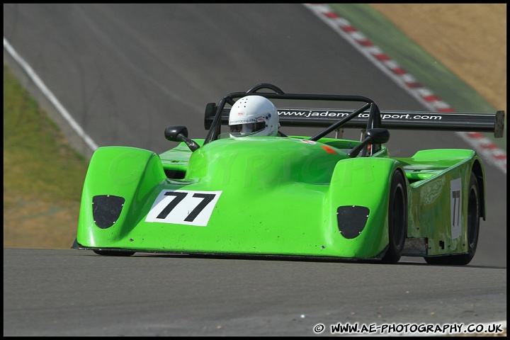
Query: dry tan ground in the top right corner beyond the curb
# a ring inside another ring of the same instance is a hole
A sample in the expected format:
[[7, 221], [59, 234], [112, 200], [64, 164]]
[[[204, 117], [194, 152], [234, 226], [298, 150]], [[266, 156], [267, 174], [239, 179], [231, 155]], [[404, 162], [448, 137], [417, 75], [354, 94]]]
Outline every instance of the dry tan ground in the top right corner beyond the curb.
[[506, 112], [506, 4], [370, 4]]

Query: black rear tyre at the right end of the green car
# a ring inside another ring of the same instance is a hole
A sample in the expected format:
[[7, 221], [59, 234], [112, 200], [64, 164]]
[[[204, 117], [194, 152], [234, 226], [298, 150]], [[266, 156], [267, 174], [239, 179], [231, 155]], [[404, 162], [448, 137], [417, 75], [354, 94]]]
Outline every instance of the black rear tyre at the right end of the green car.
[[425, 257], [429, 264], [465, 266], [475, 256], [480, 232], [480, 191], [476, 175], [471, 173], [469, 196], [467, 196], [467, 253], [458, 255]]

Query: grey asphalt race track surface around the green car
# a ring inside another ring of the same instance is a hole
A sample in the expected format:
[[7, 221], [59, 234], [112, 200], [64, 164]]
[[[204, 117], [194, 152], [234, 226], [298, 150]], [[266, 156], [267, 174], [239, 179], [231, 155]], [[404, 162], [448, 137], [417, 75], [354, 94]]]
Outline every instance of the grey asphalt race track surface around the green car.
[[[4, 4], [4, 38], [98, 146], [163, 152], [175, 124], [205, 137], [206, 103], [262, 82], [426, 111], [300, 4]], [[5, 50], [4, 62], [34, 89]], [[392, 132], [387, 146], [396, 157], [467, 148], [416, 131]], [[506, 174], [485, 167], [488, 219], [468, 266], [4, 249], [4, 336], [307, 336], [317, 324], [329, 335], [337, 323], [506, 320]]]

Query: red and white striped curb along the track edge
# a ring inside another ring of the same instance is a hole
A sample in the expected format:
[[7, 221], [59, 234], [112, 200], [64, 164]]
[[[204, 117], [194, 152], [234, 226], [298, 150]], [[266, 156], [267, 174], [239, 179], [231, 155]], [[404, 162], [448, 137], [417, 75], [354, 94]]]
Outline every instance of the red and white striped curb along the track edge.
[[[336, 33], [339, 33], [342, 38], [351, 43], [356, 50], [373, 62], [376, 67], [387, 74], [387, 76], [402, 87], [402, 89], [414, 96], [414, 98], [424, 104], [426, 108], [429, 108], [430, 111], [455, 112], [448, 103], [442, 101], [441, 98], [433, 94], [431, 90], [426, 89], [412, 74], [407, 73], [395, 60], [392, 60], [385, 52], [382, 52], [379, 47], [373, 45], [363, 33], [356, 30], [346, 18], [339, 16], [330, 6], [327, 4], [303, 5], [310, 9], [310, 11], [324, 21], [324, 23], [327, 23], [328, 26], [333, 28]], [[482, 157], [501, 169], [506, 175], [506, 151], [504, 149], [500, 149], [480, 132], [455, 133], [471, 145], [473, 149], [477, 150]]]

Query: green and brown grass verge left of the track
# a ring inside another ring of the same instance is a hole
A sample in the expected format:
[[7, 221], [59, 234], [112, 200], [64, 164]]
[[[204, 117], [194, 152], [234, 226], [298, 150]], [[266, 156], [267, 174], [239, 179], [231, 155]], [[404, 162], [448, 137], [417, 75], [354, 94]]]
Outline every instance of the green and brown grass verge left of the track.
[[69, 249], [87, 165], [4, 64], [4, 246]]

